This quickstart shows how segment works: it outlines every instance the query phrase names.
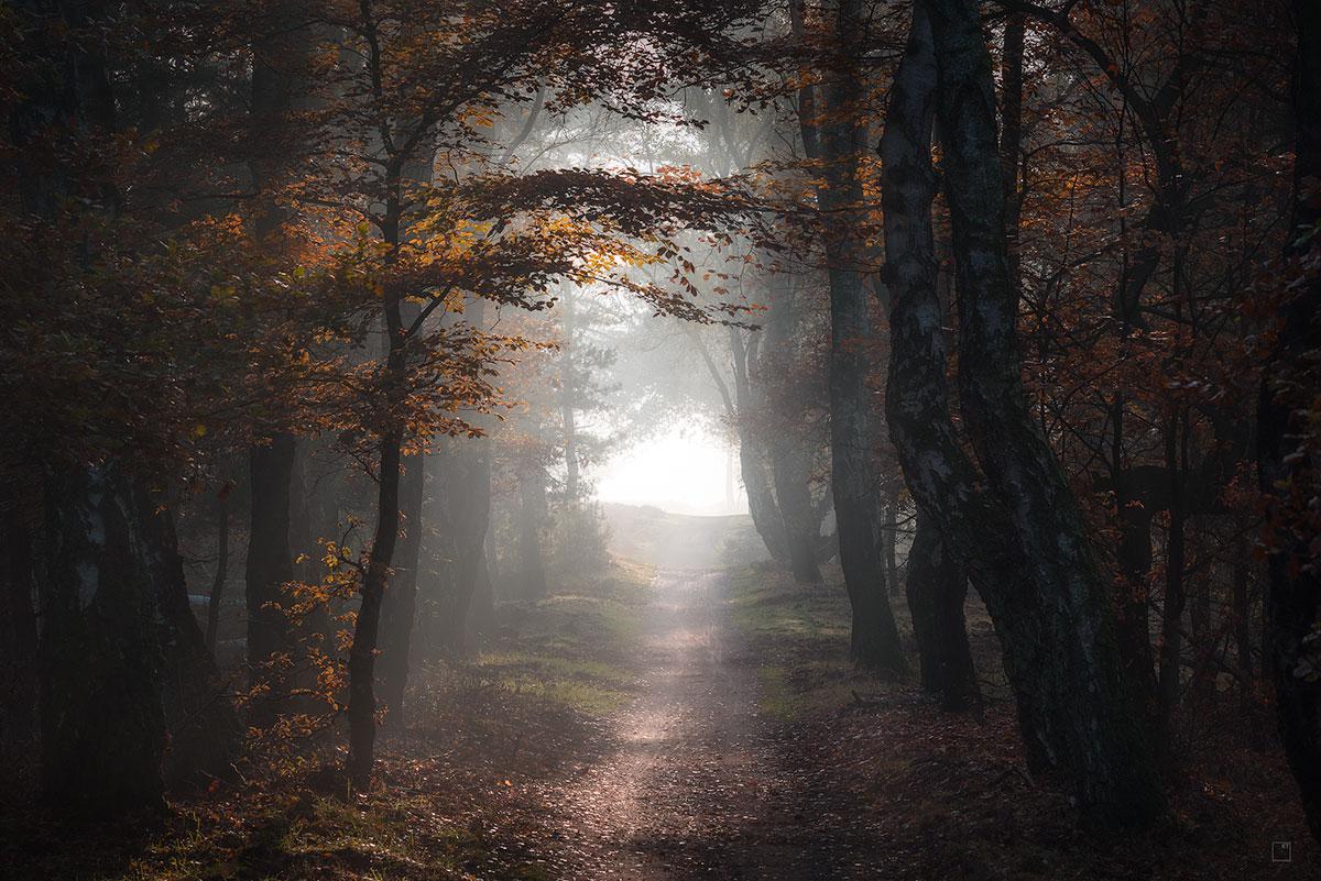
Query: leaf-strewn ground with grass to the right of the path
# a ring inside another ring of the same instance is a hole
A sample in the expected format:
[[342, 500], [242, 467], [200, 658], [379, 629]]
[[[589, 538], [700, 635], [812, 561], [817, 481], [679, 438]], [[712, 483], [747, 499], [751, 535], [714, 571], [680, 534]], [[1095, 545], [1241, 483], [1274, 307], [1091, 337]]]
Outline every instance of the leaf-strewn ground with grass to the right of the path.
[[[989, 623], [970, 603], [970, 636], [989, 673], [985, 712], [950, 715], [909, 681], [851, 669], [848, 605], [838, 574], [824, 587], [757, 568], [733, 574], [733, 621], [758, 665], [761, 706], [781, 719], [782, 762], [847, 806], [865, 847], [859, 878], [926, 881], [1243, 881], [1321, 877], [1297, 793], [1273, 744], [1254, 746], [1226, 706], [1170, 786], [1170, 820], [1139, 834], [1079, 824], [1066, 791], [1026, 773], [995, 669]], [[896, 599], [901, 629], [906, 620]], [[911, 654], [910, 654], [911, 657]], [[1229, 703], [1229, 699], [1226, 699]], [[839, 819], [807, 819], [820, 836]], [[1292, 861], [1272, 861], [1291, 841]]]

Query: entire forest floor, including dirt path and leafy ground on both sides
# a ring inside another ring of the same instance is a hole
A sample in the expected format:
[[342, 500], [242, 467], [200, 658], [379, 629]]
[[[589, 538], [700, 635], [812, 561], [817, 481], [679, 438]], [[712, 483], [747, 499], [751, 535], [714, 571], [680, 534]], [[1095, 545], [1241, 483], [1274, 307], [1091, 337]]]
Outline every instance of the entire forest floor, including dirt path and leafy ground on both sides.
[[803, 588], [750, 563], [744, 518], [609, 514], [626, 559], [502, 604], [472, 662], [417, 675], [376, 791], [349, 797], [334, 750], [178, 801], [162, 826], [59, 828], [11, 790], [0, 877], [1321, 877], [1283, 762], [1242, 725], [1201, 720], [1166, 826], [1086, 831], [1022, 768], [984, 616], [970, 636], [992, 700], [950, 716], [851, 667], [838, 572]]

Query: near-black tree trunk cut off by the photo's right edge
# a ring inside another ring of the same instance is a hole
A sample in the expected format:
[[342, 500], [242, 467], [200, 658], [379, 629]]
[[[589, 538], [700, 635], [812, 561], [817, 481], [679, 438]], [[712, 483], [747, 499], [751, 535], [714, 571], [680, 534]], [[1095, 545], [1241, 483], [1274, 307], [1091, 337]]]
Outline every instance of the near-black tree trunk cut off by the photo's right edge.
[[[1293, 92], [1299, 128], [1296, 198], [1287, 239], [1289, 256], [1301, 256], [1300, 252], [1317, 247], [1316, 239], [1304, 233], [1318, 219], [1316, 194], [1306, 187], [1321, 178], [1321, 7], [1295, 0], [1293, 11], [1299, 26]], [[1258, 455], [1262, 488], [1279, 500], [1280, 510], [1273, 520], [1283, 524], [1276, 528], [1267, 582], [1267, 663], [1275, 683], [1284, 754], [1299, 782], [1308, 827], [1321, 841], [1321, 679], [1297, 675], [1304, 663], [1313, 670], [1321, 665], [1321, 648], [1317, 646], [1321, 575], [1314, 566], [1304, 564], [1316, 535], [1295, 525], [1306, 522], [1300, 514], [1317, 488], [1316, 458], [1304, 447], [1306, 431], [1296, 422], [1295, 413], [1306, 406], [1316, 388], [1316, 368], [1309, 368], [1308, 359], [1318, 349], [1321, 278], [1313, 274], [1285, 309], [1276, 351], [1262, 382]]]

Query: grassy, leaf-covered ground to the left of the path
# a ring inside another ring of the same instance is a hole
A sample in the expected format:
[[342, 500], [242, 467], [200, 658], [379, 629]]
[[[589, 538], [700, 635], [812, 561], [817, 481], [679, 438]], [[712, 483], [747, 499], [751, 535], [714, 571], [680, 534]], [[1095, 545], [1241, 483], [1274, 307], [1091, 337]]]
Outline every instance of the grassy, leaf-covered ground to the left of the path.
[[560, 877], [547, 863], [555, 845], [542, 782], [575, 773], [609, 746], [604, 715], [631, 694], [650, 576], [616, 564], [543, 600], [502, 605], [485, 652], [417, 677], [404, 733], [387, 717], [378, 785], [367, 795], [347, 793], [336, 744], [297, 772], [176, 801], [161, 820], [69, 828], [11, 803], [0, 816], [8, 832], [0, 877]]

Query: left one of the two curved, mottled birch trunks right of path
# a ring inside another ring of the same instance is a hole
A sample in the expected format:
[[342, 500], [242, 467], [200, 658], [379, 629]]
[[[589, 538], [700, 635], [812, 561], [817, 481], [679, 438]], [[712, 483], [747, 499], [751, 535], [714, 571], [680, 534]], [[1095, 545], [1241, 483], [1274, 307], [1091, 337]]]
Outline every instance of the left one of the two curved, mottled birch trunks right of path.
[[1037, 608], [1026, 562], [1007, 512], [991, 499], [954, 429], [946, 381], [945, 307], [931, 204], [937, 62], [925, 3], [913, 11], [904, 58], [890, 88], [881, 140], [885, 284], [890, 307], [890, 365], [885, 415], [904, 480], [921, 516], [935, 521], [996, 625], [1015, 691], [1028, 766], [1061, 772], [1063, 746], [1044, 681]]

